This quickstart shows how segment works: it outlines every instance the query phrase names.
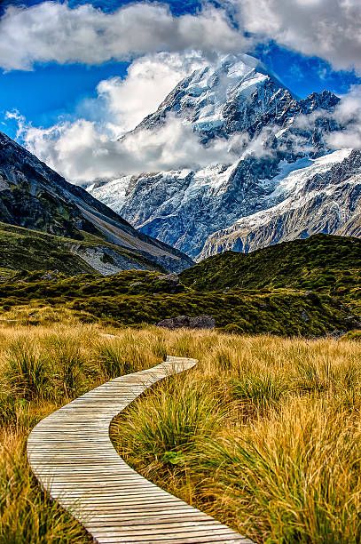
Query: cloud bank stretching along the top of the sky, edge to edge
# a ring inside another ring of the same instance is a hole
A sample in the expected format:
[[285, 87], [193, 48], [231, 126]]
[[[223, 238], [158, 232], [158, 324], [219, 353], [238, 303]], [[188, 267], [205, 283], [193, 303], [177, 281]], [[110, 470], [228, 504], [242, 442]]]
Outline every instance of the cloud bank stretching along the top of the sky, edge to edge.
[[[91, 4], [43, 2], [8, 7], [0, 19], [0, 66], [32, 69], [36, 62], [131, 60], [152, 52], [249, 50], [275, 40], [336, 69], [361, 73], [360, 0], [224, 0], [224, 9], [175, 17], [166, 4], [128, 4], [102, 12]], [[227, 16], [232, 5], [235, 28]], [[247, 37], [246, 37], [247, 36]], [[250, 37], [252, 36], [252, 37]]]

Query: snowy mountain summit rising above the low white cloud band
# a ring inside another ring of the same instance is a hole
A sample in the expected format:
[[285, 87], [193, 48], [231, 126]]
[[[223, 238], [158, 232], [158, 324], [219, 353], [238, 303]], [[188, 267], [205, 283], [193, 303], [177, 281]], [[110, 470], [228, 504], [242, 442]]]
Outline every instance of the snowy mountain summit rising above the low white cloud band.
[[244, 53], [227, 54], [179, 82], [135, 131], [156, 129], [172, 115], [191, 124], [204, 144], [239, 133], [253, 139], [265, 126], [283, 129], [296, 116], [331, 110], [338, 101], [329, 91], [300, 100], [259, 60]]

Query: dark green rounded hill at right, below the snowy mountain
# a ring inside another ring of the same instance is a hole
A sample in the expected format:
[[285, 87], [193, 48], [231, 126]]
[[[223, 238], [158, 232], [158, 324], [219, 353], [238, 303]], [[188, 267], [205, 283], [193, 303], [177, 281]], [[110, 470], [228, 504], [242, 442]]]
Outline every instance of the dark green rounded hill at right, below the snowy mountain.
[[225, 252], [180, 278], [202, 292], [292, 288], [342, 294], [361, 286], [361, 240], [315, 235], [251, 253]]

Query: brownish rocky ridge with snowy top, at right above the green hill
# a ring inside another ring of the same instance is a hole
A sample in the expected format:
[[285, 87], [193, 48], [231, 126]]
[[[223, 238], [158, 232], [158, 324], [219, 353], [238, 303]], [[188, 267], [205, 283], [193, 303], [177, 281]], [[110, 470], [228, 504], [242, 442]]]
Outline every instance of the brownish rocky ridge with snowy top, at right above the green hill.
[[[341, 159], [341, 162], [338, 161]], [[200, 259], [227, 250], [252, 252], [317, 233], [361, 236], [361, 152], [323, 156], [280, 182], [284, 200], [208, 237]]]

